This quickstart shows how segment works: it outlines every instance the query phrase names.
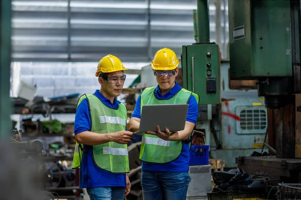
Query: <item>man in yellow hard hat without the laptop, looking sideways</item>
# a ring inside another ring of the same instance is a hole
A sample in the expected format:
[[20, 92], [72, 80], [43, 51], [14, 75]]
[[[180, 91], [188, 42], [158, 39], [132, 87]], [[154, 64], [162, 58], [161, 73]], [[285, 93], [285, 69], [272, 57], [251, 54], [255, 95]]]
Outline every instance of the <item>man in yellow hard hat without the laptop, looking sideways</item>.
[[80, 168], [79, 187], [87, 188], [91, 200], [123, 200], [130, 191], [127, 143], [133, 133], [126, 131], [126, 106], [116, 99], [124, 70], [116, 56], [104, 56], [95, 73], [100, 90], [78, 100], [72, 168]]

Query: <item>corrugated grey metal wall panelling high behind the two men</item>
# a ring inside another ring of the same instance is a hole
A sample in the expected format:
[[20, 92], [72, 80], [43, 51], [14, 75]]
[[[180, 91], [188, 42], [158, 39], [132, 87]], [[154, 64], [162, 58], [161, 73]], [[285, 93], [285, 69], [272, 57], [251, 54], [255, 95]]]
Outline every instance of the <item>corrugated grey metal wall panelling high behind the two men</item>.
[[[69, 6], [70, 5], [70, 6]], [[196, 0], [13, 0], [13, 61], [145, 62], [194, 41]], [[210, 0], [211, 40], [215, 6]], [[148, 15], [149, 13], [149, 15]], [[150, 17], [150, 18], [149, 18]]]

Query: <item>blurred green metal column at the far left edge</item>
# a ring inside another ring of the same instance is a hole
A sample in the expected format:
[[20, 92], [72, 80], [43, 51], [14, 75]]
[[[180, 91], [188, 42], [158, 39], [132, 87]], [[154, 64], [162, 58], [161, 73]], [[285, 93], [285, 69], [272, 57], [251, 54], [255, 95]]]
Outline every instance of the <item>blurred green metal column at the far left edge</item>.
[[0, 0], [0, 136], [11, 135], [11, 0]]

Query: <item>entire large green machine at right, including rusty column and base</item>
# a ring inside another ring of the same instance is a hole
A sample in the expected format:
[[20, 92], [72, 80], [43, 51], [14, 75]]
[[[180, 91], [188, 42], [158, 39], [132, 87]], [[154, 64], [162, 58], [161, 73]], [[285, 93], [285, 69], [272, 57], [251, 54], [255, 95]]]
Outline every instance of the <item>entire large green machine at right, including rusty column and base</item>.
[[228, 0], [230, 78], [257, 80], [274, 138], [265, 145], [276, 155], [242, 156], [236, 163], [290, 183], [300, 181], [301, 165], [300, 7], [300, 0]]

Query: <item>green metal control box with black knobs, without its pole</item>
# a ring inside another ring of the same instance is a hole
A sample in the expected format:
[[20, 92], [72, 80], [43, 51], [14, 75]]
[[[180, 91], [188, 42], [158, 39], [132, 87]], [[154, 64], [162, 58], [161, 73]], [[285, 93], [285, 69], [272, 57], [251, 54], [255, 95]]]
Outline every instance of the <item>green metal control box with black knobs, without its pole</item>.
[[183, 87], [200, 96], [199, 104], [219, 104], [220, 51], [213, 42], [182, 46]]

